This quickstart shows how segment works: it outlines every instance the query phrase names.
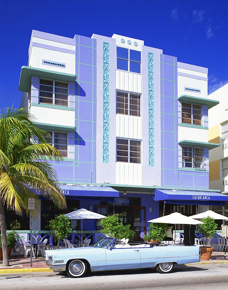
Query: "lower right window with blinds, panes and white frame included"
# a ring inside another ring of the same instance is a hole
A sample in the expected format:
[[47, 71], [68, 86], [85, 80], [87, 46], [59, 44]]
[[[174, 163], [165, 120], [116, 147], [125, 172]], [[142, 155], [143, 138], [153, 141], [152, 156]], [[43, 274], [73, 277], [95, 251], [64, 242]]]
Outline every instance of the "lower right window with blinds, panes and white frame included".
[[182, 147], [182, 167], [204, 168], [203, 148]]

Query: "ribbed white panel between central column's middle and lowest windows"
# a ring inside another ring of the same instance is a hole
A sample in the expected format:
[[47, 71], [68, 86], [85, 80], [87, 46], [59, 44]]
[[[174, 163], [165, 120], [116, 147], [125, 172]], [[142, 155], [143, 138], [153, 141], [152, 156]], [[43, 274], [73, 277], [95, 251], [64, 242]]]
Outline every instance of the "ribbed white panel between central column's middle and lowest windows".
[[142, 140], [142, 118], [116, 114], [116, 136]]

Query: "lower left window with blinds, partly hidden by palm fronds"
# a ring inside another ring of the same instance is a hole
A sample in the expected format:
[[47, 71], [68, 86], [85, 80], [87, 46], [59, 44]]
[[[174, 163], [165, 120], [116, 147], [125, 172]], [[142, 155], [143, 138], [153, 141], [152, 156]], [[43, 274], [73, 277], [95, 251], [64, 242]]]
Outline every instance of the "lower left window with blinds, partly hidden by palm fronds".
[[60, 133], [60, 132], [49, 132], [46, 131], [46, 135], [44, 136], [46, 142], [52, 144], [61, 156], [67, 157], [68, 156], [68, 134], [67, 133]]

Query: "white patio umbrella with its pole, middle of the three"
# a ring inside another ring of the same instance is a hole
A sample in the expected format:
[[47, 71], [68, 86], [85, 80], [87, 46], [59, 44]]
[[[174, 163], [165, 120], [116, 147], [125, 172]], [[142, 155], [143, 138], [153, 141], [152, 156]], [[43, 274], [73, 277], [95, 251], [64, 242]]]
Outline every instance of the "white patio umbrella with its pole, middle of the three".
[[[148, 222], [161, 222], [164, 224], [175, 224], [175, 235], [176, 237], [176, 224], [204, 224], [204, 222], [200, 222], [198, 220], [194, 220], [193, 218], [187, 217], [186, 215], [182, 215], [181, 213], [171, 213], [170, 215], [164, 215], [160, 218], [155, 218], [153, 220], [148, 220]], [[174, 239], [175, 245], [175, 239]]]

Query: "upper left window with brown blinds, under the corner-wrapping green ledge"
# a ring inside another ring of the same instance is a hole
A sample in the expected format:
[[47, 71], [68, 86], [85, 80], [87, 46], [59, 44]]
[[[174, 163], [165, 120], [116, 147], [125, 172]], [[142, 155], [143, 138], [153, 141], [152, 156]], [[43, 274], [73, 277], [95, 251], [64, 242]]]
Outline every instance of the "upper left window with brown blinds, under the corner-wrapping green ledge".
[[68, 83], [39, 79], [39, 102], [68, 106]]

